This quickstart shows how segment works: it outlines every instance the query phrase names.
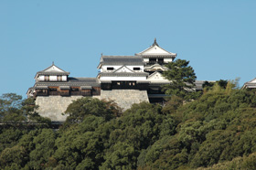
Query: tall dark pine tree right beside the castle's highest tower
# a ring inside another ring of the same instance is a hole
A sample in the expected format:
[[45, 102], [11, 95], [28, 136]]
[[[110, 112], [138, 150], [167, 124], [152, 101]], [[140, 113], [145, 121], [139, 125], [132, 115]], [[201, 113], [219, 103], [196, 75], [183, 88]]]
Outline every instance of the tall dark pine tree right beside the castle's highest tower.
[[186, 101], [195, 98], [193, 95], [196, 94], [195, 81], [197, 76], [194, 69], [188, 64], [189, 61], [185, 59], [177, 59], [166, 65], [168, 70], [164, 71], [163, 75], [165, 79], [171, 81], [170, 84], [164, 86], [166, 94], [176, 95]]

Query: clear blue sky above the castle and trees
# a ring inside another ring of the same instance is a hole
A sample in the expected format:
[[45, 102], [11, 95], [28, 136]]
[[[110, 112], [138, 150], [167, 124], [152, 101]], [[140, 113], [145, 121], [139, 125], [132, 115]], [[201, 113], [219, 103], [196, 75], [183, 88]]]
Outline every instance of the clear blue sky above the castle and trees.
[[103, 55], [151, 46], [187, 59], [197, 80], [256, 77], [255, 0], [1, 0], [0, 95], [26, 97], [52, 61], [71, 77], [96, 77]]

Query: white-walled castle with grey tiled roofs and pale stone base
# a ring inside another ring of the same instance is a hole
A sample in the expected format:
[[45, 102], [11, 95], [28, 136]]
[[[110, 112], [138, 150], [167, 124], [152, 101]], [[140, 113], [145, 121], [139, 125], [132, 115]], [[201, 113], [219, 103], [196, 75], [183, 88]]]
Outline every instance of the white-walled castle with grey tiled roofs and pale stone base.
[[[115, 101], [124, 110], [141, 101], [163, 102], [161, 86], [170, 83], [162, 73], [165, 64], [172, 62], [176, 53], [161, 48], [156, 39], [152, 46], [134, 56], [102, 56], [96, 78], [73, 78], [69, 72], [54, 63], [38, 71], [27, 96], [35, 98], [37, 112], [53, 122], [64, 122], [62, 115], [72, 101], [93, 97]], [[202, 90], [204, 81], [196, 81], [196, 90]]]

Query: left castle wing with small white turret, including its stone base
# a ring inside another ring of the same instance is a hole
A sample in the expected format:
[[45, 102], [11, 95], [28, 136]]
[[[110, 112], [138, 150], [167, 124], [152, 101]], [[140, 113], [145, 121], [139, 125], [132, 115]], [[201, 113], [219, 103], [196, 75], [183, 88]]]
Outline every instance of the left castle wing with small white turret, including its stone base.
[[101, 84], [97, 78], [72, 78], [69, 72], [59, 69], [54, 63], [47, 69], [38, 71], [36, 83], [27, 90], [27, 97], [36, 100], [37, 112], [53, 122], [64, 122], [62, 115], [72, 101], [83, 96], [99, 97]]

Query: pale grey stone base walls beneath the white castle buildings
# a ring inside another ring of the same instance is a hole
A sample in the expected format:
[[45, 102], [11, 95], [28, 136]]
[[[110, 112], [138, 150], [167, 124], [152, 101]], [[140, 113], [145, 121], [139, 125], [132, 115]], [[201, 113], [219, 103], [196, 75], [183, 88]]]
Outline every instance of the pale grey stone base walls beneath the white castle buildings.
[[[36, 104], [39, 106], [37, 112], [48, 117], [54, 122], [65, 122], [67, 115], [62, 115], [72, 101], [80, 99], [82, 96], [37, 96]], [[133, 103], [147, 101], [146, 90], [101, 90], [101, 96], [93, 98], [115, 101], [123, 110], [129, 109]]]

